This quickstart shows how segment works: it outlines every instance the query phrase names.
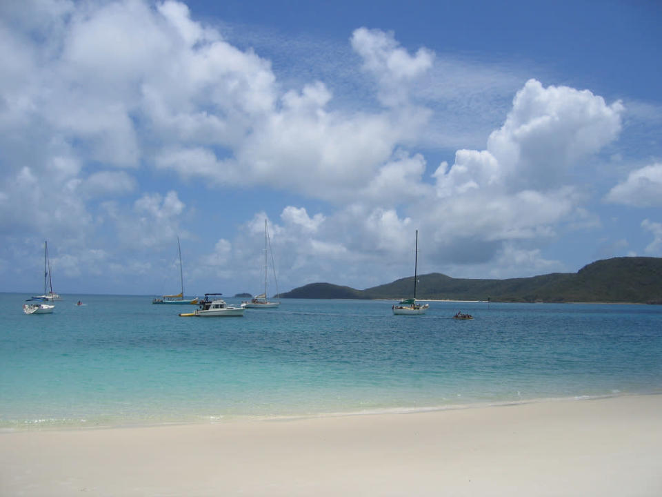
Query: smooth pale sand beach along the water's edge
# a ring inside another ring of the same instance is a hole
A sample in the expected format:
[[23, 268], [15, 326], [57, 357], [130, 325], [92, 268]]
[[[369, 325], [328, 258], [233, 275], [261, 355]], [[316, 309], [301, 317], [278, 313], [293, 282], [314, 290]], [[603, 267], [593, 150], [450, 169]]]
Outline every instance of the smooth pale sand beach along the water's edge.
[[659, 496], [662, 396], [0, 434], [2, 496]]

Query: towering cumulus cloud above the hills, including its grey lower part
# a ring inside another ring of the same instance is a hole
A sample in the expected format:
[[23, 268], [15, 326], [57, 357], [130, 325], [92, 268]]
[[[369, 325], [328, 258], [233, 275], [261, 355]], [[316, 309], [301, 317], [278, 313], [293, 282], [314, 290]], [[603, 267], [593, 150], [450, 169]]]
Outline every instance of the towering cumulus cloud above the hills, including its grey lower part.
[[437, 200], [421, 212], [439, 260], [479, 264], [516, 253], [505, 251], [516, 240], [552, 240], [559, 224], [587, 218], [567, 173], [618, 135], [622, 110], [586, 90], [527, 81], [486, 150], [458, 150], [432, 175]]

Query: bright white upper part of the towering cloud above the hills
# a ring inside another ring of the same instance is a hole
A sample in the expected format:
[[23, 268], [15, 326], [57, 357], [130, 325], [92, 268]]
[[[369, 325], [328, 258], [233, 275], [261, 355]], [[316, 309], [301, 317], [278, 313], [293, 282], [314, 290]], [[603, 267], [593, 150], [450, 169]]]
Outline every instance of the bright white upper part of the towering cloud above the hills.
[[607, 106], [588, 90], [543, 88], [530, 79], [487, 150], [459, 150], [450, 170], [445, 164], [437, 169], [438, 195], [559, 188], [569, 170], [616, 137], [622, 110], [619, 102]]

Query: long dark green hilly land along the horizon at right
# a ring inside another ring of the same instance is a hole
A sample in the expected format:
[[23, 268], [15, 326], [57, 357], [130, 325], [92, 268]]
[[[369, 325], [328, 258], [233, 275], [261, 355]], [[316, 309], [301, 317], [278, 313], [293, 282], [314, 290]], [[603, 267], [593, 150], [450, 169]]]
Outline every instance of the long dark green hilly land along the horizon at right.
[[[312, 283], [281, 293], [281, 298], [400, 299], [410, 297], [413, 287], [413, 276], [365, 290]], [[662, 257], [614, 257], [592, 262], [576, 273], [551, 273], [508, 280], [462, 279], [430, 273], [419, 275], [417, 298], [662, 304]]]

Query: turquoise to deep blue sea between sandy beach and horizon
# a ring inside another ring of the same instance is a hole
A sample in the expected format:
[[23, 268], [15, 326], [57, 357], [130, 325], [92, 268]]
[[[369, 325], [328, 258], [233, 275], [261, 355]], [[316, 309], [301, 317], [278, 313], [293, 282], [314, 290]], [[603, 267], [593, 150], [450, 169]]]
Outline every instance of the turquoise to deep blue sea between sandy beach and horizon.
[[0, 293], [4, 429], [662, 391], [662, 306], [432, 302], [394, 316], [390, 302], [283, 300], [243, 318], [180, 318], [193, 306], [114, 295], [64, 295], [52, 315], [24, 315], [28, 296]]

